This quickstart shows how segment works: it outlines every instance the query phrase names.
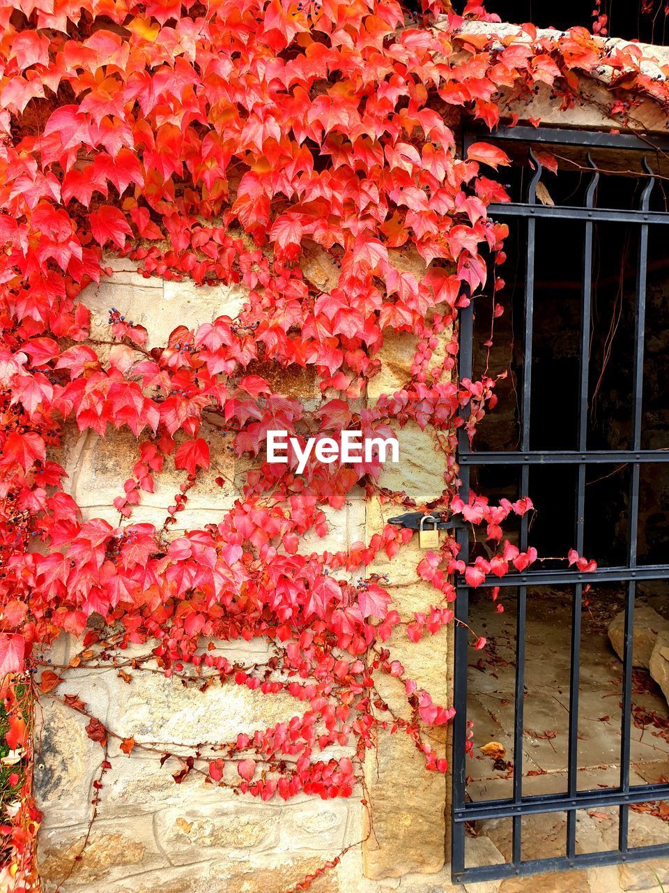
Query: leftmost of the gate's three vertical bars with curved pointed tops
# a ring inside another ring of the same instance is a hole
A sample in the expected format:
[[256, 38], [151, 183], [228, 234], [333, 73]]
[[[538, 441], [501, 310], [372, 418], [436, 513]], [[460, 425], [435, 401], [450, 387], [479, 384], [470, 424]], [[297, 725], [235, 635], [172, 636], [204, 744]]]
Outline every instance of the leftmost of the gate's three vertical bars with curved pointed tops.
[[[537, 172], [530, 183], [528, 200], [533, 204], [536, 186], [541, 176], [541, 164], [536, 162]], [[521, 397], [520, 444], [526, 453], [530, 448], [530, 412], [532, 394], [532, 340], [534, 318], [534, 248], [535, 223], [532, 218], [527, 221], [527, 256], [525, 262], [525, 296], [524, 296], [524, 339], [523, 339], [523, 390]], [[530, 485], [530, 469], [523, 465], [520, 470], [520, 496], [527, 495]], [[520, 519], [520, 538], [518, 547], [524, 552], [528, 546], [528, 515]], [[523, 798], [523, 725], [524, 725], [524, 671], [525, 671], [525, 626], [527, 614], [527, 588], [518, 587], [516, 613], [516, 687], [515, 687], [515, 722], [514, 722], [514, 803], [520, 804]], [[513, 819], [513, 864], [522, 861], [522, 819], [515, 815]]]

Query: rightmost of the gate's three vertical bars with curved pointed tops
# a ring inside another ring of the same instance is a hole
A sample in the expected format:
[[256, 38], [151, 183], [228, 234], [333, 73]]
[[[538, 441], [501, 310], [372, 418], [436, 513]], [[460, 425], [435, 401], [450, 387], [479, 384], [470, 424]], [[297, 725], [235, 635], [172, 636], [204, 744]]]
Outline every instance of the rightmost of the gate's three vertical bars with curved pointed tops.
[[[648, 211], [650, 193], [655, 185], [652, 171], [643, 160], [648, 172], [648, 185], [641, 196], [641, 210]], [[634, 321], [634, 366], [632, 371], [632, 450], [641, 447], [641, 409], [643, 397], [643, 353], [644, 335], [646, 331], [646, 276], [648, 273], [648, 223], [640, 225], [639, 261], [637, 265], [637, 288]], [[631, 466], [630, 499], [629, 499], [629, 535], [627, 540], [628, 567], [637, 566], [637, 537], [639, 528], [639, 481], [640, 463]], [[621, 719], [620, 747], [620, 787], [623, 791], [630, 789], [630, 743], [632, 737], [632, 654], [634, 647], [634, 597], [636, 581], [627, 584], [625, 599], [624, 656], [623, 656], [623, 715]], [[627, 805], [620, 807], [618, 822], [618, 848], [626, 853], [628, 848], [627, 826], [629, 810]]]

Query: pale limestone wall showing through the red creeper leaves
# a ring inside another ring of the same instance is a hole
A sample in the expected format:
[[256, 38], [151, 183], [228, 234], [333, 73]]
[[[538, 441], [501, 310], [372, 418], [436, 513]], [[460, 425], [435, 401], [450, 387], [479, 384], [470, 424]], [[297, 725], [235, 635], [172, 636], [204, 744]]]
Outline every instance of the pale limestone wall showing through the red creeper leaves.
[[[194, 328], [223, 313], [234, 317], [244, 303], [241, 288], [194, 288], [189, 283], [144, 279], [126, 260], [110, 259], [109, 263], [111, 278], [99, 288], [89, 288], [84, 296], [93, 314], [92, 337], [100, 341], [109, 338], [111, 306], [145, 326], [151, 347], [165, 344], [178, 324]], [[311, 259], [305, 271], [321, 288], [332, 275], [328, 262], [320, 257]], [[401, 386], [414, 350], [415, 338], [410, 334], [389, 339], [370, 399]], [[274, 384], [284, 393], [318, 403], [317, 384], [307, 375]], [[191, 490], [186, 511], [177, 515], [170, 536], [218, 522], [233, 504], [248, 464], [235, 459], [224, 438], [212, 440], [211, 455], [217, 467]], [[443, 455], [435, 452], [431, 435], [417, 428], [403, 430], [401, 460], [399, 466], [388, 466], [382, 486], [406, 490], [418, 502], [441, 495]], [[112, 502], [122, 493], [123, 481], [136, 462], [136, 439], [123, 432], [111, 432], [106, 438], [71, 432], [60, 461], [84, 517], [119, 524]], [[226, 479], [225, 486], [214, 482], [218, 475]], [[180, 472], [163, 472], [157, 477], [155, 492], [143, 494], [131, 521], [161, 526], [181, 482]], [[308, 536], [302, 548], [345, 548], [382, 530], [392, 513], [374, 502], [366, 504], [361, 491], [353, 492], [342, 511], [326, 512], [326, 537]], [[417, 546], [409, 545], [402, 556], [395, 562], [379, 559], [370, 572], [389, 574], [395, 606], [409, 618], [431, 603], [434, 590], [417, 580]], [[443, 630], [425, 643], [412, 645], [399, 628], [391, 642], [393, 656], [433, 693], [435, 701], [449, 700], [448, 637], [449, 632]], [[260, 640], [218, 644], [218, 653], [229, 660], [249, 663], [265, 659], [270, 647]], [[368, 760], [371, 823], [370, 813], [360, 802], [365, 796], [362, 789], [349, 799], [324, 802], [297, 797], [287, 803], [278, 799], [262, 803], [214, 787], [196, 773], [177, 784], [172, 773], [178, 772], [178, 761], [170, 758], [161, 766], [161, 748], [187, 754], [188, 747], [289, 720], [299, 706], [287, 694], [263, 696], [235, 685], [222, 686], [218, 680], [202, 691], [198, 687], [202, 680], [187, 683], [176, 675], [166, 679], [153, 663], [143, 660], [150, 645], [123, 654], [125, 663], [136, 662], [134, 669], [128, 666], [130, 674], [125, 676], [122, 668], [121, 672], [110, 667], [78, 669], [71, 664], [77, 663], [81, 647], [77, 640], [63, 638], [45, 654], [65, 680], [55, 692], [57, 697], [78, 695], [112, 731], [133, 736], [137, 745], [154, 747], [158, 754], [135, 747], [126, 755], [118, 741], [110, 742], [111, 769], [103, 775], [87, 839], [103, 752], [88, 738], [84, 716], [49, 694], [42, 697], [37, 711], [36, 788], [45, 814], [39, 835], [45, 893], [56, 889], [63, 893], [281, 893], [343, 847], [363, 839], [363, 847], [353, 847], [335, 871], [315, 882], [316, 893], [371, 893], [400, 885], [425, 889], [420, 877], [432, 883], [434, 872], [441, 872], [437, 876], [445, 879], [447, 780], [425, 772], [424, 762], [406, 736], [384, 736]], [[395, 695], [392, 683], [396, 681], [388, 680], [389, 690], [384, 694], [401, 709], [403, 687], [398, 684]], [[445, 740], [440, 746], [445, 749]], [[202, 752], [206, 753], [206, 745]]]

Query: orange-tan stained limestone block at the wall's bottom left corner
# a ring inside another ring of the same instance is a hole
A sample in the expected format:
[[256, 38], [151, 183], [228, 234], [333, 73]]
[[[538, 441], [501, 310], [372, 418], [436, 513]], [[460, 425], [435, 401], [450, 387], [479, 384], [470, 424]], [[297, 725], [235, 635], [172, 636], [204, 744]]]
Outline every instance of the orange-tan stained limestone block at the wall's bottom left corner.
[[[87, 839], [87, 825], [68, 830], [43, 830], [37, 863], [45, 893], [80, 884], [104, 884], [169, 864], [157, 847], [150, 822], [95, 822]], [[86, 847], [84, 844], [86, 843]], [[80, 858], [79, 858], [80, 856]]]

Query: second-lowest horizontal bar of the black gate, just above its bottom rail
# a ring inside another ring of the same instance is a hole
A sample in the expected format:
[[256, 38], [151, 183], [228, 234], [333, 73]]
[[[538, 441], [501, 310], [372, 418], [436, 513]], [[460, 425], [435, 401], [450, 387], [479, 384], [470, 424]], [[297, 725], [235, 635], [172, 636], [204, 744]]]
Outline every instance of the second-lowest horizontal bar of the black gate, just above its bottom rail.
[[[514, 815], [562, 813], [568, 809], [592, 809], [595, 806], [619, 806], [623, 803], [648, 803], [669, 798], [669, 784], [636, 785], [629, 791], [620, 788], [580, 790], [568, 794], [539, 794], [523, 797], [520, 804], [513, 800], [482, 800], [467, 803], [453, 810], [454, 822], [480, 822], [483, 819], [503, 819]], [[669, 844], [668, 844], [669, 846]]]

